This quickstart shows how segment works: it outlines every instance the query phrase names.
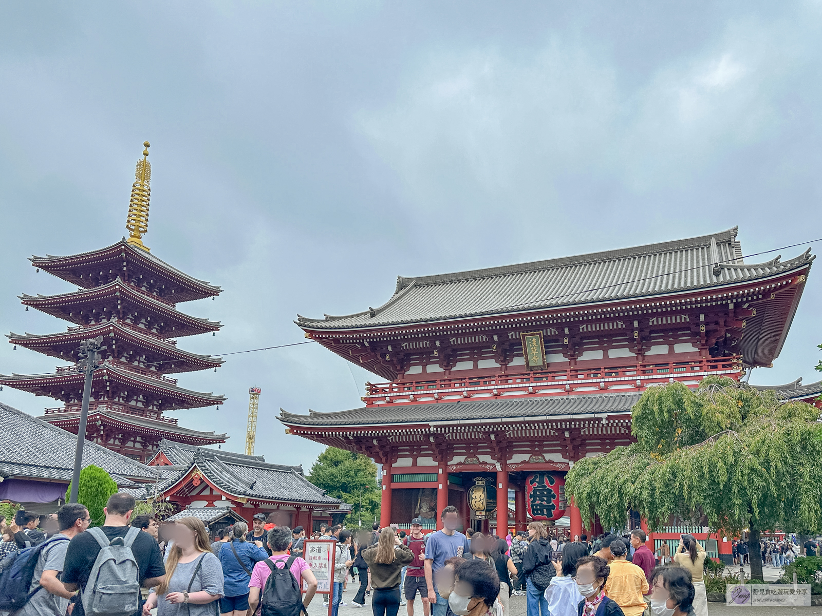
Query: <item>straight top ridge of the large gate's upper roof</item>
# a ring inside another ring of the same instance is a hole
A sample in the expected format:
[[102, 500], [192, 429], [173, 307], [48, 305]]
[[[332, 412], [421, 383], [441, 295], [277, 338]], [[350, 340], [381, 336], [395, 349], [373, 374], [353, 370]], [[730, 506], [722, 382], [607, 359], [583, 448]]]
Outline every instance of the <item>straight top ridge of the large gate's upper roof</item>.
[[432, 274], [429, 276], [398, 276], [397, 291], [399, 292], [400, 289], [409, 286], [411, 283], [417, 283], [417, 286], [441, 283], [455, 283], [463, 280], [471, 280], [473, 278], [493, 278], [496, 276], [505, 276], [506, 274], [522, 274], [525, 272], [533, 272], [541, 269], [556, 269], [565, 267], [567, 265], [600, 263], [602, 261], [626, 259], [629, 257], [643, 255], [654, 255], [659, 252], [684, 250], [700, 246], [710, 246], [710, 241], [712, 238], [715, 241], [717, 241], [717, 243], [732, 244], [737, 239], [737, 232], [738, 227], [733, 227], [730, 229], [726, 229], [722, 232], [709, 233], [708, 235], [699, 237], [686, 237], [681, 240], [660, 241], [654, 244], [644, 244], [643, 246], [631, 246], [629, 248], [617, 248], [610, 251], [589, 252], [584, 255], [556, 257], [554, 259], [530, 261], [526, 263], [502, 265], [498, 267], [483, 269], [469, 269], [462, 272], [453, 272], [450, 274]]

